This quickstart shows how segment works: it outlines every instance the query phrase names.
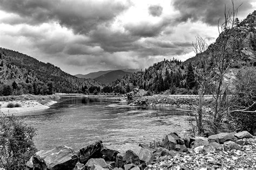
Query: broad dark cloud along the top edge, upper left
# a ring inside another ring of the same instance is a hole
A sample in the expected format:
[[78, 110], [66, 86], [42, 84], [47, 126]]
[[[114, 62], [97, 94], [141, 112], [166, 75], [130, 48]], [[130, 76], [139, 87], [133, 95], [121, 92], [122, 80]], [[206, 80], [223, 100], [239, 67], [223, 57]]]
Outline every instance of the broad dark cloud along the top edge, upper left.
[[87, 33], [100, 23], [110, 22], [128, 7], [129, 3], [115, 1], [0, 0], [1, 10], [19, 16], [6, 20], [9, 24], [56, 21], [76, 33]]

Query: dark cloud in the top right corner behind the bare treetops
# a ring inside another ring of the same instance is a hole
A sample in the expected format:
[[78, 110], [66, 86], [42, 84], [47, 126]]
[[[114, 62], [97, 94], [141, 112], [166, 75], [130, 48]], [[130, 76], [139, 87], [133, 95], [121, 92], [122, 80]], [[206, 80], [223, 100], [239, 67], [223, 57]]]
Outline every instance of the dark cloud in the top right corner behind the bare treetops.
[[[251, 2], [253, 1], [235, 0], [235, 7], [242, 3], [238, 14], [248, 12], [247, 10], [252, 8]], [[224, 17], [225, 4], [227, 10], [232, 8], [230, 0], [174, 0], [173, 2], [174, 8], [180, 11], [177, 22], [186, 22], [191, 19], [192, 22], [201, 20], [209, 25], [217, 25], [218, 20]]]

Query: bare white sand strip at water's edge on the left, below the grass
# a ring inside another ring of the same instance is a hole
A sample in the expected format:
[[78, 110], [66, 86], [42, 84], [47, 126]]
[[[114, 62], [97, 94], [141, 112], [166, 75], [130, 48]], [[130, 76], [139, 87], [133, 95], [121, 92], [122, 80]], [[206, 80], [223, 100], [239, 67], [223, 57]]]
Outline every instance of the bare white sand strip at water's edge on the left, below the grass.
[[[7, 108], [8, 103], [18, 103], [21, 104], [21, 107], [18, 108]], [[20, 114], [23, 112], [30, 112], [36, 110], [43, 110], [50, 108], [49, 106], [57, 103], [56, 101], [48, 100], [46, 103], [41, 104], [36, 100], [28, 100], [28, 101], [10, 101], [10, 102], [0, 102], [1, 114], [11, 115], [11, 114]]]

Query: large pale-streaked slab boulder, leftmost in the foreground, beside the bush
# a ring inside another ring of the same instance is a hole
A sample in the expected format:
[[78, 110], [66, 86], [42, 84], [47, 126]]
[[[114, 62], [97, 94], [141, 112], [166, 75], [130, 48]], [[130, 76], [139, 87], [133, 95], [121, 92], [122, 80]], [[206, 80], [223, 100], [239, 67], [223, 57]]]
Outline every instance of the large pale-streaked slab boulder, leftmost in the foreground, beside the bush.
[[28, 161], [27, 166], [34, 169], [73, 169], [78, 161], [72, 148], [58, 146], [49, 151], [38, 151]]

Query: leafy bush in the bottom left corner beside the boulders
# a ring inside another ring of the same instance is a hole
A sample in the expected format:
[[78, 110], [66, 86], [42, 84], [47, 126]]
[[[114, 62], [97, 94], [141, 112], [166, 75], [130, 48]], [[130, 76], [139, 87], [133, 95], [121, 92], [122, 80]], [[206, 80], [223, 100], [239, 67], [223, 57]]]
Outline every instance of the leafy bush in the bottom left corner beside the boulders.
[[0, 117], [0, 169], [26, 169], [26, 162], [37, 151], [33, 144], [36, 130], [15, 116]]

